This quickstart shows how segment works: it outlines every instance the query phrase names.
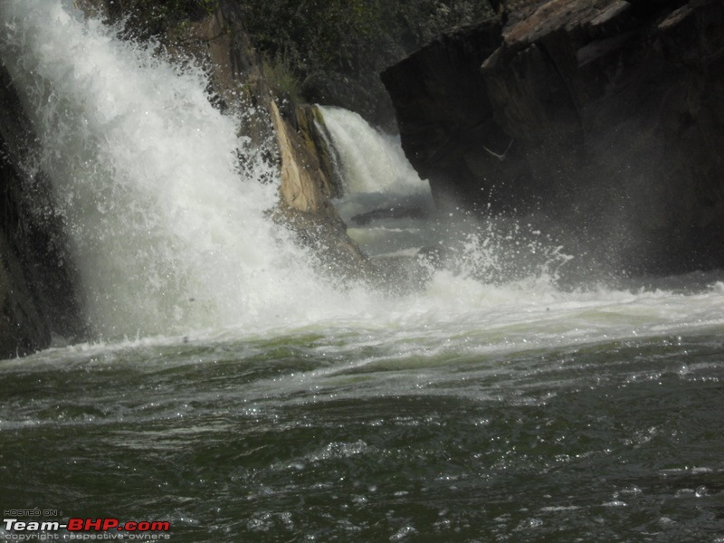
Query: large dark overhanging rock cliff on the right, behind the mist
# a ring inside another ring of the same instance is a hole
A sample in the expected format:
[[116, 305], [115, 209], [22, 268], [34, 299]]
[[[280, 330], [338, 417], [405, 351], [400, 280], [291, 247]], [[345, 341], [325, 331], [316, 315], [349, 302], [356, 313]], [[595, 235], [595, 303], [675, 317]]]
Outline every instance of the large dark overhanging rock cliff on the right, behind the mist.
[[502, 11], [382, 74], [438, 204], [542, 212], [629, 271], [724, 265], [724, 5]]

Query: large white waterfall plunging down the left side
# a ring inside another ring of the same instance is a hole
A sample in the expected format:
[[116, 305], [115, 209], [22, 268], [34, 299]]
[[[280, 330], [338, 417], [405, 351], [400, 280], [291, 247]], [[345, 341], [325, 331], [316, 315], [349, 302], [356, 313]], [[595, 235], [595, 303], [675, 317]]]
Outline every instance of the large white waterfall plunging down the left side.
[[0, 18], [0, 55], [42, 147], [28, 167], [52, 180], [101, 335], [251, 326], [325, 297], [309, 257], [263, 215], [277, 187], [239, 171], [245, 141], [202, 71], [120, 41], [70, 2], [4, 0]]

